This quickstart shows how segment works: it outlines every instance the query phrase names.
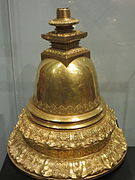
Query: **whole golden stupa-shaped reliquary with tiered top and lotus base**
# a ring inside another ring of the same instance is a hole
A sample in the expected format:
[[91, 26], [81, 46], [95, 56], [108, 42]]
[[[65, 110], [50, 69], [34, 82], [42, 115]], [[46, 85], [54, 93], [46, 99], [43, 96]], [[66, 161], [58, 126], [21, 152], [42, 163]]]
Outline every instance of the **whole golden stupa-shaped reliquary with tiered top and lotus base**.
[[35, 90], [11, 133], [8, 154], [37, 179], [92, 179], [123, 161], [127, 144], [115, 113], [100, 96], [90, 52], [79, 46], [86, 32], [68, 8], [49, 21], [56, 29], [42, 38]]

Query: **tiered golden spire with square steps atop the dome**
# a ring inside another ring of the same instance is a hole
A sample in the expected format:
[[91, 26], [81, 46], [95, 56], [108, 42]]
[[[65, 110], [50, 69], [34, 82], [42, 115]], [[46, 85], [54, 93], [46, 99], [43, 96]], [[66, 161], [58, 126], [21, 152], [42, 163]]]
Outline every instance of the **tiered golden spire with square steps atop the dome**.
[[56, 26], [55, 30], [41, 35], [51, 42], [51, 48], [42, 53], [42, 60], [55, 57], [68, 66], [77, 57], [90, 57], [90, 52], [79, 46], [80, 39], [86, 37], [87, 32], [74, 30], [73, 25], [77, 23], [79, 20], [71, 17], [69, 8], [57, 9], [57, 18], [49, 21], [50, 25]]

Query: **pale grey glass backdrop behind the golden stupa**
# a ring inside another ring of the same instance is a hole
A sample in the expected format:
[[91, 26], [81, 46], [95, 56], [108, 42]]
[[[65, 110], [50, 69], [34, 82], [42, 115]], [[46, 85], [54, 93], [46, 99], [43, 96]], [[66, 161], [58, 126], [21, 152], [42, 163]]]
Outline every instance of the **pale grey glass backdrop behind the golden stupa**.
[[8, 132], [16, 121], [15, 113], [12, 112], [19, 113], [32, 95], [40, 53], [49, 47], [49, 43], [42, 40], [40, 35], [53, 29], [47, 22], [55, 18], [56, 8], [70, 7], [72, 16], [80, 19], [78, 28], [88, 31], [89, 36], [81, 45], [92, 52], [101, 94], [116, 110], [118, 122], [125, 130], [128, 144], [135, 145], [135, 2], [9, 0], [8, 3], [7, 0], [2, 0], [0, 4], [2, 142], [6, 143]]

